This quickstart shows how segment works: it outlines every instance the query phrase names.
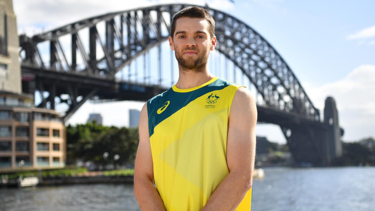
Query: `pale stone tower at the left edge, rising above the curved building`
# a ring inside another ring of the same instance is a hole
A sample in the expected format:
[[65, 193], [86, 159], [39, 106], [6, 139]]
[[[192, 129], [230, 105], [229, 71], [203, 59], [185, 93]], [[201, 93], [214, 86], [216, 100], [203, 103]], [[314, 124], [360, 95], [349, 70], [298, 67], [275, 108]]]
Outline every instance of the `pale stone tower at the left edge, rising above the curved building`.
[[0, 90], [20, 94], [21, 66], [18, 60], [17, 20], [12, 0], [0, 0]]

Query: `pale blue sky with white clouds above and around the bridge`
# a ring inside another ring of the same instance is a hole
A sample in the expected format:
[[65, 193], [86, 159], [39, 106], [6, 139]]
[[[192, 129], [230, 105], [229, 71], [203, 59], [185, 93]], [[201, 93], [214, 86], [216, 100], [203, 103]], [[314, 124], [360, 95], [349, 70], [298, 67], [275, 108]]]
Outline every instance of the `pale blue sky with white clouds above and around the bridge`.
[[[375, 1], [13, 0], [13, 10], [18, 34], [31, 36], [94, 15], [162, 3], [207, 3], [242, 20], [278, 51], [321, 116], [326, 97], [335, 99], [344, 141], [375, 136]], [[101, 113], [104, 125], [127, 127], [127, 110], [140, 110], [143, 104], [86, 102], [68, 124], [84, 123], [89, 113]], [[278, 125], [259, 124], [256, 133], [286, 143]]]

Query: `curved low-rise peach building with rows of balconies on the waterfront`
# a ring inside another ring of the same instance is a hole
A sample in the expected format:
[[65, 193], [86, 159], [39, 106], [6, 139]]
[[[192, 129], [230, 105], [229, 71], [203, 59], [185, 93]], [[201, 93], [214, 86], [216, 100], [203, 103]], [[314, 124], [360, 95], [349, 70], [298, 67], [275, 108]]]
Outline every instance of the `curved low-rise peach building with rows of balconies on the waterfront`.
[[65, 167], [66, 129], [54, 110], [0, 91], [0, 172]]

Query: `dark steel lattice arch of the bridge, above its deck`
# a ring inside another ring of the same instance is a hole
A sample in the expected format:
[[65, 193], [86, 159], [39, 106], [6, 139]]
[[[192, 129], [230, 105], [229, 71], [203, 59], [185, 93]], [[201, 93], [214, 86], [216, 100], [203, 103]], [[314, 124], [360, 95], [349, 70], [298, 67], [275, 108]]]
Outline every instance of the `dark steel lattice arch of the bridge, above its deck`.
[[[32, 38], [20, 36], [21, 51], [24, 51], [22, 65], [93, 78], [103, 78], [104, 75], [109, 80], [114, 79], [114, 74], [136, 57], [168, 39], [169, 34], [163, 33], [162, 28], [169, 32], [172, 16], [186, 6], [189, 5], [157, 5], [112, 12], [77, 21]], [[263, 96], [266, 107], [297, 113], [311, 121], [320, 121], [318, 109], [312, 104], [299, 80], [279, 53], [259, 33], [229, 14], [207, 9], [216, 22], [216, 49], [233, 61], [249, 78]], [[165, 13], [169, 14], [169, 20], [163, 15]], [[117, 23], [116, 18], [119, 20]], [[96, 27], [101, 21], [105, 21], [104, 41]], [[89, 28], [89, 53], [84, 49], [82, 38], [78, 34], [78, 31], [85, 28]], [[64, 35], [71, 35], [71, 64], [59, 41]], [[48, 65], [43, 63], [37, 47], [38, 43], [44, 41], [50, 43]], [[96, 56], [97, 42], [104, 52], [101, 58]], [[117, 49], [115, 42], [119, 46]], [[82, 71], [77, 68], [77, 51], [83, 58]]]

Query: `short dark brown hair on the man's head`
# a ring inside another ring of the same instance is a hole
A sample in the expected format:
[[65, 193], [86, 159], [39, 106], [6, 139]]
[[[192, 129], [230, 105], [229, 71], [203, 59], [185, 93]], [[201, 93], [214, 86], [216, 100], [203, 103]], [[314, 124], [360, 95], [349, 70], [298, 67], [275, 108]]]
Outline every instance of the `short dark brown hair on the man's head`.
[[200, 8], [197, 6], [190, 6], [187, 8], [183, 8], [178, 11], [172, 18], [171, 23], [171, 37], [173, 39], [173, 33], [176, 29], [176, 20], [178, 18], [187, 17], [187, 18], [203, 18], [208, 22], [208, 32], [210, 33], [211, 38], [215, 35], [215, 21], [213, 20], [210, 13], [208, 13], [207, 9]]

